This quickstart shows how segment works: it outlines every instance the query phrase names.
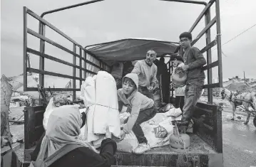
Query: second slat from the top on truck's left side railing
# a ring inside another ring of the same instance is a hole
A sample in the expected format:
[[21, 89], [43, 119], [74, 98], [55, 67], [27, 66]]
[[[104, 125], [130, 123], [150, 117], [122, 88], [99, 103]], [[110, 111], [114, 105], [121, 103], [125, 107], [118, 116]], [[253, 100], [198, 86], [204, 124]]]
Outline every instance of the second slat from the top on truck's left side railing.
[[69, 50], [68, 48], [65, 48], [63, 47], [62, 45], [54, 42], [54, 41], [51, 41], [49, 38], [46, 38], [44, 36], [41, 36], [39, 33], [36, 33], [35, 31], [31, 30], [28, 28], [28, 33], [31, 34], [32, 36], [36, 36], [37, 38], [40, 38], [41, 40], [43, 41], [46, 41], [47, 43], [50, 43], [51, 45], [54, 45], [56, 46], [57, 48], [60, 48], [61, 50], [64, 50], [66, 51], [67, 53], [70, 53], [71, 55], [75, 55], [77, 58], [81, 58], [82, 60], [86, 61], [86, 63], [90, 64], [90, 65], [93, 65], [94, 67], [96, 68], [99, 68], [101, 70], [103, 70], [103, 68], [101, 68], [100, 66], [96, 65], [95, 63], [91, 63], [90, 61], [84, 59], [83, 57], [81, 57], [80, 55], [76, 54], [76, 53], [73, 53], [73, 51]]

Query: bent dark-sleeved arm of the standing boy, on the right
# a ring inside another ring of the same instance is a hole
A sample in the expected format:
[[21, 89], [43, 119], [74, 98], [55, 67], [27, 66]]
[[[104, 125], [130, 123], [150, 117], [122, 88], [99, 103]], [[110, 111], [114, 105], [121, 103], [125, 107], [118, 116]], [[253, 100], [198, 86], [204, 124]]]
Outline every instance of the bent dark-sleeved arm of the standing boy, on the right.
[[188, 70], [193, 70], [194, 68], [202, 68], [203, 65], [206, 64], [206, 60], [203, 57], [203, 54], [200, 53], [200, 50], [198, 48], [192, 48], [190, 51], [195, 56], [195, 61], [188, 64]]

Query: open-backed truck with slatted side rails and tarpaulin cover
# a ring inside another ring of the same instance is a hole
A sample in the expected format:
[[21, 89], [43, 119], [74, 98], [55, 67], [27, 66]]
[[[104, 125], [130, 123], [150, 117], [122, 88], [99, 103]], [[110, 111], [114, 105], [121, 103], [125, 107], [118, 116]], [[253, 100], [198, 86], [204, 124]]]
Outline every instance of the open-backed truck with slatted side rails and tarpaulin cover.
[[[171, 68], [173, 67], [171, 63], [171, 55], [175, 53], [183, 54], [183, 49], [180, 48], [179, 43], [154, 39], [127, 38], [107, 43], [83, 46], [43, 18], [46, 14], [53, 14], [58, 11], [72, 9], [78, 6], [86, 6], [88, 4], [94, 5], [101, 1], [103, 0], [86, 1], [81, 4], [65, 6], [59, 9], [43, 12], [41, 16], [35, 14], [24, 6], [24, 92], [38, 91], [37, 87], [28, 87], [27, 85], [27, 74], [33, 72], [39, 74], [39, 84], [42, 87], [44, 87], [45, 75], [71, 79], [72, 88], [53, 87], [51, 88], [51, 91], [72, 92], [72, 98], [73, 100], [76, 100], [76, 92], [80, 91], [79, 88], [76, 88], [76, 81], [79, 82], [79, 85], [82, 85], [82, 82], [86, 80], [86, 77], [96, 75], [99, 70], [110, 72], [111, 65], [118, 61], [142, 60], [145, 58], [146, 50], [149, 48], [155, 48], [158, 57], [165, 56], [165, 58], [169, 58], [167, 65], [168, 72], [171, 75]], [[163, 1], [168, 1], [168, 3], [189, 3], [204, 6], [203, 11], [190, 29], [188, 29], [188, 32], [193, 32], [200, 20], [205, 18], [205, 28], [203, 28], [193, 40], [192, 45], [195, 45], [201, 37], [205, 36], [206, 45], [204, 48], [200, 48], [200, 52], [204, 53], [207, 58], [207, 65], [205, 65], [203, 69], [207, 72], [208, 76], [208, 82], [204, 85], [204, 89], [208, 90], [208, 103], [198, 102], [196, 105], [196, 111], [193, 115], [193, 134], [190, 134], [191, 144], [188, 154], [170, 151], [168, 146], [152, 149], [140, 156], [133, 153], [117, 152], [116, 166], [222, 166], [222, 107], [213, 104], [213, 88], [222, 87], [220, 0], [210, 0], [208, 3], [205, 1], [191, 0]], [[215, 6], [215, 17], [211, 18], [210, 9], [213, 6]], [[28, 16], [32, 16], [31, 18], [39, 21], [39, 32], [28, 27]], [[211, 39], [211, 28], [214, 25], [216, 26], [217, 35], [214, 39]], [[61, 35], [65, 40], [73, 43], [73, 48], [66, 48], [60, 43], [57, 43], [50, 38], [46, 38], [46, 27], [51, 28], [52, 31]], [[34, 50], [29, 47], [28, 34], [39, 38], [39, 50]], [[179, 34], [177, 34], [177, 36], [178, 35]], [[67, 62], [60, 58], [56, 58], [54, 55], [46, 54], [46, 43], [73, 55], [73, 62]], [[130, 45], [133, 45], [134, 47], [128, 47]], [[215, 45], [217, 45], [217, 60], [213, 62], [212, 48]], [[39, 56], [39, 69], [28, 67], [28, 54]], [[168, 57], [168, 55], [170, 56]], [[66, 65], [66, 67], [72, 67], [73, 75], [64, 75], [58, 72], [45, 70], [45, 60], [52, 60]], [[212, 68], [218, 69], [219, 80], [217, 83], [213, 83]], [[49, 90], [49, 88], [46, 88], [46, 90]], [[169, 92], [172, 92], [173, 94], [171, 87], [169, 87]], [[24, 145], [21, 146], [21, 149], [19, 149], [20, 153], [18, 153], [18, 155], [21, 156], [20, 159], [23, 166], [29, 166], [31, 161], [30, 153], [31, 151], [34, 151], [37, 141], [39, 141], [43, 134], [44, 129], [42, 121], [45, 109], [46, 106], [43, 104], [24, 108]], [[185, 158], [186, 156], [188, 158]]]

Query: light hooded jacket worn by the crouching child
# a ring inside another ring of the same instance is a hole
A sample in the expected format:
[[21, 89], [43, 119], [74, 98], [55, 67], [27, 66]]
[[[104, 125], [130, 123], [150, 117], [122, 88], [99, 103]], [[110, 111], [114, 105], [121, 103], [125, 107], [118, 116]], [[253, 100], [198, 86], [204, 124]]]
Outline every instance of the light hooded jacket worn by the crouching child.
[[122, 105], [124, 104], [131, 108], [128, 122], [123, 127], [123, 131], [125, 131], [128, 134], [133, 129], [133, 125], [135, 124], [140, 111], [153, 107], [154, 101], [153, 99], [150, 99], [145, 95], [141, 94], [140, 92], [138, 92], [138, 75], [137, 74], [129, 73], [125, 77], [128, 77], [130, 78], [130, 80], [133, 80], [136, 86], [135, 90], [131, 93], [130, 97], [128, 98], [126, 98], [126, 95], [123, 92], [123, 88], [118, 90], [118, 103], [119, 104], [121, 103]]

